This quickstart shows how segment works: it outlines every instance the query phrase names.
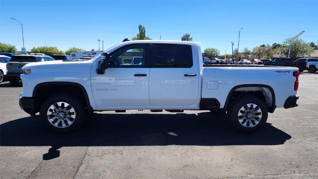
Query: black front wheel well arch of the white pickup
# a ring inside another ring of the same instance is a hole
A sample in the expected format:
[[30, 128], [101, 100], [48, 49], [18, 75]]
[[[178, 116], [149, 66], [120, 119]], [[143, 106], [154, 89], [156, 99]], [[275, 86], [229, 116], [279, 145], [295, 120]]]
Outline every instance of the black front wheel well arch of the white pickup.
[[41, 104], [48, 97], [62, 93], [70, 94], [76, 96], [80, 101], [83, 102], [85, 109], [90, 107], [89, 100], [87, 97], [86, 91], [84, 91], [82, 86], [73, 85], [73, 84], [42, 84], [34, 88], [33, 97], [34, 97], [34, 107], [35, 111], [38, 112], [41, 108]]

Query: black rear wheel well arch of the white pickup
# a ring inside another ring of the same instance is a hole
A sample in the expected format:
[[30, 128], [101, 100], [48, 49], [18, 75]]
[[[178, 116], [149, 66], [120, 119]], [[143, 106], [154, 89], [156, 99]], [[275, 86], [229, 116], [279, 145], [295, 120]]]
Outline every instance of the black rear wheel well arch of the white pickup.
[[252, 95], [261, 99], [266, 104], [268, 112], [274, 112], [275, 110], [275, 94], [273, 92], [273, 89], [266, 86], [248, 86], [233, 88], [227, 98], [224, 108], [227, 109], [229, 104], [231, 104], [234, 99], [242, 95]]

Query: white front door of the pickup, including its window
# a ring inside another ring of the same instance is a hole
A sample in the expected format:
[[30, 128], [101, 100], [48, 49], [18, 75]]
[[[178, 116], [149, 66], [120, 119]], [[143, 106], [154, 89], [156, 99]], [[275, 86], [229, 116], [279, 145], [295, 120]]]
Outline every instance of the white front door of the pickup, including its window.
[[92, 71], [91, 86], [98, 109], [150, 105], [150, 68], [147, 65], [150, 55], [146, 49], [147, 44], [121, 47], [110, 54], [110, 67], [105, 74], [98, 75]]

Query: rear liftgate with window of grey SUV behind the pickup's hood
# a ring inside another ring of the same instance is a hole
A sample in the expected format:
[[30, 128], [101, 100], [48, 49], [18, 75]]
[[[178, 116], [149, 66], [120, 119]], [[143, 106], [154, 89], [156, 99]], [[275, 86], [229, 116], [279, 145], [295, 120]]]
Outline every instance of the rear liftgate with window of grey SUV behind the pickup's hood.
[[22, 74], [22, 67], [28, 63], [36, 62], [34, 56], [12, 56], [9, 63], [6, 65], [8, 73]]

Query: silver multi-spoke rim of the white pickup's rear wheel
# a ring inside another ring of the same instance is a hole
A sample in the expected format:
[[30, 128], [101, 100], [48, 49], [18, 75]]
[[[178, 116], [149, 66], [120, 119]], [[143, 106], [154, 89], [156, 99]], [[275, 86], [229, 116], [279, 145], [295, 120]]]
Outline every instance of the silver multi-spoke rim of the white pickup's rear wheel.
[[239, 109], [239, 123], [244, 127], [256, 126], [262, 118], [262, 110], [253, 103], [245, 104]]

